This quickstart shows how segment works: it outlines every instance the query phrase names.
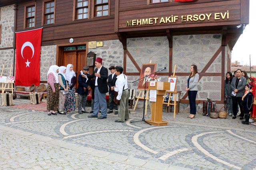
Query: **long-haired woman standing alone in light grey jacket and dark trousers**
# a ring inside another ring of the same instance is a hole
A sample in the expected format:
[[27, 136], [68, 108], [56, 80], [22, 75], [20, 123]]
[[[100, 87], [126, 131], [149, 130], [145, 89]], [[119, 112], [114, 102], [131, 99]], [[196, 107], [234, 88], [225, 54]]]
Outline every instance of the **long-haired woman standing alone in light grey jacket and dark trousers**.
[[186, 92], [188, 92], [188, 100], [190, 106], [190, 115], [188, 118], [194, 119], [196, 116], [196, 94], [198, 92], [197, 84], [199, 80], [199, 74], [196, 65], [190, 66], [190, 74], [188, 77], [188, 84], [186, 86]]

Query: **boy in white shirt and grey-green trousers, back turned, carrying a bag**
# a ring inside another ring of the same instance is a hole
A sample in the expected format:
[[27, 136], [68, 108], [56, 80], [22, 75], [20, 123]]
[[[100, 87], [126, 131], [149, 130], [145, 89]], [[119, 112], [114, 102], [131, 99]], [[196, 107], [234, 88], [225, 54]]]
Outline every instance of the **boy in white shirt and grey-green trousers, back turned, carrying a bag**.
[[124, 122], [125, 120], [129, 119], [129, 92], [128, 92], [128, 82], [127, 76], [122, 74], [123, 68], [121, 66], [116, 66], [116, 87], [114, 87], [115, 93], [118, 92], [116, 99], [114, 101], [118, 105], [118, 120], [115, 122]]

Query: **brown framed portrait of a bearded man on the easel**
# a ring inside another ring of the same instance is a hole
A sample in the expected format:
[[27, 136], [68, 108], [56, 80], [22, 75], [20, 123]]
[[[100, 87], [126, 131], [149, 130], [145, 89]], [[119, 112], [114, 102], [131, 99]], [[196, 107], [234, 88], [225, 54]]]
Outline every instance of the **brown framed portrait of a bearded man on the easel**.
[[[140, 78], [143, 78], [144, 76], [149, 76], [155, 71], [156, 71], [156, 64], [142, 64]], [[145, 84], [146, 84], [146, 89], [148, 89], [148, 79], [146, 81], [144, 79], [139, 80], [138, 89], [144, 89]]]

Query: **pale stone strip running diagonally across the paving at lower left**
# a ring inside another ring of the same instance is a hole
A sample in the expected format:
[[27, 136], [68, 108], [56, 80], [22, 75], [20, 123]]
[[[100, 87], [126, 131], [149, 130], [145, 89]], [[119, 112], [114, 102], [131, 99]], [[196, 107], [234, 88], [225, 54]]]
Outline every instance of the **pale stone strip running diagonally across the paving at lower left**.
[[12, 127], [6, 127], [6, 126], [0, 125], [0, 131], [6, 131], [9, 133], [17, 133], [18, 135], [28, 137], [31, 139], [35, 139], [38, 141], [42, 141], [42, 142], [47, 142], [47, 143], [50, 143], [50, 144], [53, 144], [53, 145], [56, 145], [56, 146], [59, 146], [62, 148], [74, 150], [77, 152], [82, 152], [82, 153], [89, 154], [92, 156], [97, 156], [100, 158], [105, 158], [107, 160], [111, 160], [113, 162], [119, 162], [121, 164], [137, 166], [140, 168], [161, 169], [161, 170], [180, 170], [180, 169], [185, 170], [185, 169], [187, 169], [187, 168], [182, 168], [179, 166], [172, 166], [172, 165], [168, 165], [168, 164], [164, 164], [164, 163], [160, 163], [160, 162], [154, 162], [154, 161], [149, 162], [149, 161], [141, 160], [139, 158], [119, 155], [119, 154], [115, 154], [115, 153], [106, 152], [103, 150], [96, 150], [96, 149], [92, 149], [89, 147], [83, 147], [80, 145], [69, 143], [67, 141], [62, 141], [60, 139], [52, 139], [50, 137], [33, 134], [33, 133], [22, 131], [19, 129], [14, 129]]

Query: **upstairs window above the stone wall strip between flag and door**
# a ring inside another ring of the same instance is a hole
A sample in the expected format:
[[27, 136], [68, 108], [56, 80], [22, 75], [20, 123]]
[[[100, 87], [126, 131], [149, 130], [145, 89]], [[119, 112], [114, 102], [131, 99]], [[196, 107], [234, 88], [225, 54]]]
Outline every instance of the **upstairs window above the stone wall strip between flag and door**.
[[54, 8], [55, 2], [44, 2], [44, 23], [43, 24], [51, 24], [54, 23]]

